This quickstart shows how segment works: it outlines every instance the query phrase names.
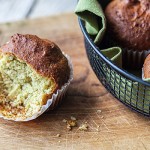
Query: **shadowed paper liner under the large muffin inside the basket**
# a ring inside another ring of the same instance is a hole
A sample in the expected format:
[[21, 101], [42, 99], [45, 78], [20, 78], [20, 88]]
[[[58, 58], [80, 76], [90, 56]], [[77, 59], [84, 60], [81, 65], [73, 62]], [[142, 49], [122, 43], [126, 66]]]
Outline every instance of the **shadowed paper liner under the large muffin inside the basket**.
[[122, 62], [123, 68], [125, 69], [142, 69], [146, 56], [150, 54], [150, 50], [144, 50], [141, 52], [126, 48], [122, 48], [122, 50]]

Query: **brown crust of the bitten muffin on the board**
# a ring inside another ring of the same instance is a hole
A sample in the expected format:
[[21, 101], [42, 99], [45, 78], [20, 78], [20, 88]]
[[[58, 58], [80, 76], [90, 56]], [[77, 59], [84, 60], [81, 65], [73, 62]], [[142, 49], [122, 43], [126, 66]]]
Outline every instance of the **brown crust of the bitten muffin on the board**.
[[52, 77], [58, 88], [69, 79], [67, 58], [59, 47], [49, 40], [40, 39], [36, 35], [15, 34], [1, 47], [1, 51], [15, 55], [42, 76]]

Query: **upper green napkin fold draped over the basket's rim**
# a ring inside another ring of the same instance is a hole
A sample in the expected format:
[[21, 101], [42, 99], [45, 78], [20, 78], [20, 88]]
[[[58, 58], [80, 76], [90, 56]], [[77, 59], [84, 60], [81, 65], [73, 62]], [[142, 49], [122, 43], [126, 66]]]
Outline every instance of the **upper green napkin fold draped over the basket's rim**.
[[86, 22], [86, 29], [95, 36], [95, 43], [99, 43], [106, 30], [106, 19], [97, 0], [79, 0], [76, 14]]

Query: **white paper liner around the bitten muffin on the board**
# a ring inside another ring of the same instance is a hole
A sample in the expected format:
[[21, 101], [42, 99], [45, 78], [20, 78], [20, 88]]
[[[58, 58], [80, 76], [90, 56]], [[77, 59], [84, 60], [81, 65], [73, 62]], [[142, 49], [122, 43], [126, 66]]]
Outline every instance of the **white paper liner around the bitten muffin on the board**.
[[25, 122], [25, 121], [30, 121], [33, 119], [36, 119], [37, 117], [39, 117], [40, 115], [42, 115], [45, 111], [47, 111], [48, 109], [52, 109], [55, 106], [57, 106], [58, 103], [61, 102], [62, 98], [64, 97], [71, 81], [73, 80], [73, 65], [72, 65], [72, 61], [70, 59], [70, 57], [65, 54], [63, 52], [63, 54], [66, 56], [66, 58], [68, 59], [68, 65], [70, 67], [70, 77], [67, 83], [65, 83], [61, 89], [58, 89], [56, 93], [54, 93], [52, 95], [51, 99], [48, 99], [46, 105], [43, 105], [40, 109], [39, 112], [35, 113], [32, 117], [26, 118], [26, 119], [22, 119], [22, 118], [6, 118], [5, 116], [3, 116], [2, 114], [0, 114], [0, 118], [6, 119], [6, 120], [12, 120], [12, 121], [20, 121], [20, 122]]

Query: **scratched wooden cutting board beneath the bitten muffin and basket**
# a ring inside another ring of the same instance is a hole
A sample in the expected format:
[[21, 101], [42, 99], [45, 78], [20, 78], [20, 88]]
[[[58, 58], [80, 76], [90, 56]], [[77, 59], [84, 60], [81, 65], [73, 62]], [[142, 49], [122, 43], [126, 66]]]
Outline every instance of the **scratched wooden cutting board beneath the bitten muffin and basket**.
[[[150, 149], [150, 119], [116, 100], [101, 85], [88, 63], [83, 36], [74, 14], [0, 25], [0, 44], [14, 33], [36, 34], [56, 42], [74, 65], [63, 103], [30, 122], [0, 119], [0, 149], [142, 150]], [[77, 118], [71, 131], [62, 120]]]

